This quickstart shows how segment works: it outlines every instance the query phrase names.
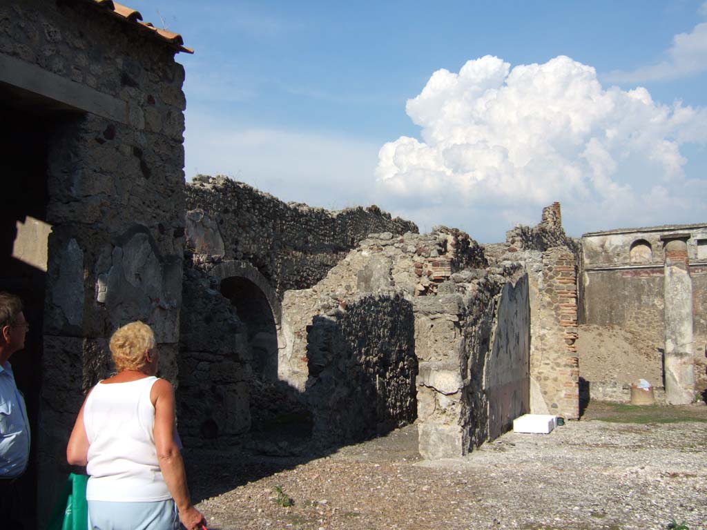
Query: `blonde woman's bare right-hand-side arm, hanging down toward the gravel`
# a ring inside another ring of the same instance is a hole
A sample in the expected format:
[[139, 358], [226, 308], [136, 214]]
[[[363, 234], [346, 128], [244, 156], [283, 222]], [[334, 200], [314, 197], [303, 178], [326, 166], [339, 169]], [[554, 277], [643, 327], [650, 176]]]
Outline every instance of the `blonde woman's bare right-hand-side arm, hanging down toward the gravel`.
[[184, 461], [175, 441], [174, 389], [165, 379], [158, 379], [153, 384], [150, 397], [155, 404], [155, 446], [165, 483], [177, 504], [182, 524], [187, 530], [201, 530], [206, 519], [189, 500]]

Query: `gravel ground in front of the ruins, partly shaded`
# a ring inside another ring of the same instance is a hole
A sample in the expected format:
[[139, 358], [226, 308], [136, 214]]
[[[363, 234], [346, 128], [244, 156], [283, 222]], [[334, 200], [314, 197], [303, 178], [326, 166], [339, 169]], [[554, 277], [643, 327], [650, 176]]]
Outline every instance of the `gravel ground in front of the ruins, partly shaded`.
[[459, 459], [423, 461], [416, 444], [411, 425], [325, 455], [186, 457], [211, 530], [707, 529], [707, 406], [590, 404]]

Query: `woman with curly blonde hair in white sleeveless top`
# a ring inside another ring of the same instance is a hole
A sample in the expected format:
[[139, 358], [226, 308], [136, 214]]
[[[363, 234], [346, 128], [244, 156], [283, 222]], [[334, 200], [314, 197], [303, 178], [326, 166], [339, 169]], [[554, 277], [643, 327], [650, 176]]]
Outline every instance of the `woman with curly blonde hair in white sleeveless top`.
[[155, 377], [150, 326], [132, 322], [110, 338], [118, 373], [99, 382], [78, 413], [66, 459], [86, 466], [92, 529], [187, 530], [205, 526], [192, 506], [175, 436], [172, 385]]

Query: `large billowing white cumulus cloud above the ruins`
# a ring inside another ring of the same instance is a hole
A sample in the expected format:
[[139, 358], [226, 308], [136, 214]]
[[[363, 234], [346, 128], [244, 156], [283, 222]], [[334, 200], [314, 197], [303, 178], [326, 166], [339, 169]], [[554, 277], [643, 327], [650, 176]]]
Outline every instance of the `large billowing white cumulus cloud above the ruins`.
[[552, 201], [574, 235], [707, 217], [704, 168], [686, 175], [680, 151], [705, 145], [707, 111], [662, 105], [645, 88], [603, 88], [595, 69], [569, 57], [511, 68], [486, 56], [459, 73], [438, 70], [407, 114], [421, 141], [380, 148], [377, 192], [422, 227], [503, 240]]

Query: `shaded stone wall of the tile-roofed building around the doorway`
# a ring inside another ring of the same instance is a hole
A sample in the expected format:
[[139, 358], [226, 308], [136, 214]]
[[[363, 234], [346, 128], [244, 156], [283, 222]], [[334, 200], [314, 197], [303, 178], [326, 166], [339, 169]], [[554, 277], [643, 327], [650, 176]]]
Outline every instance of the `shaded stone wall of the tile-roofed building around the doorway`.
[[80, 2], [0, 6], [0, 54], [110, 95], [124, 122], [72, 114], [49, 140], [49, 262], [40, 403], [40, 520], [66, 476], [66, 440], [109, 370], [121, 324], [153, 326], [176, 376], [184, 234], [184, 69], [174, 50]]

